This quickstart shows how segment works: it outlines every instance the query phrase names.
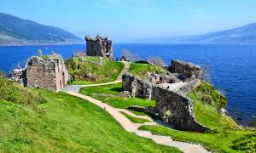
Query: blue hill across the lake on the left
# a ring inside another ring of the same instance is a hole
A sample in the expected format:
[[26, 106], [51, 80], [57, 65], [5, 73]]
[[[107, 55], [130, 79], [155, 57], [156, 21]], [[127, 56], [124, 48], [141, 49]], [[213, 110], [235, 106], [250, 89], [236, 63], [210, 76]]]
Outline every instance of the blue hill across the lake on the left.
[[40, 25], [0, 13], [0, 45], [65, 44], [82, 40], [55, 26]]

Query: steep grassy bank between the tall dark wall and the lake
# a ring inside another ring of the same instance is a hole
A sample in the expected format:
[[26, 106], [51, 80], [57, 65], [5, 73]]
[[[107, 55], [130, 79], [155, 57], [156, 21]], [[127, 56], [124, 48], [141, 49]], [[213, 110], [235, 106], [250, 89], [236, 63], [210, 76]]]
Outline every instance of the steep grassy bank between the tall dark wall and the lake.
[[[223, 107], [226, 104], [226, 100], [209, 83], [201, 82], [201, 85], [194, 88], [188, 94], [188, 97], [193, 101], [195, 120], [197, 122], [212, 129], [238, 127], [230, 116], [222, 116], [218, 113], [220, 105]], [[211, 100], [206, 100], [203, 97], [208, 97]]]

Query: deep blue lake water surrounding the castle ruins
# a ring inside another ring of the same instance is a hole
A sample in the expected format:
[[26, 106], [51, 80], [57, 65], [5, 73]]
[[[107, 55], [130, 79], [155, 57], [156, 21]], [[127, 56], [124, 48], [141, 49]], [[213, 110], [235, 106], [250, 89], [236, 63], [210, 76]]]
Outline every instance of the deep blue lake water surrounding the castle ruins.
[[[0, 70], [8, 74], [37, 54], [38, 48], [43, 54], [55, 50], [67, 59], [73, 52], [85, 50], [85, 45], [0, 47]], [[243, 118], [239, 122], [245, 124], [256, 116], [256, 45], [114, 44], [114, 56], [119, 57], [123, 49], [142, 59], [160, 57], [166, 65], [171, 59], [206, 65], [212, 84], [228, 99], [230, 115]]]

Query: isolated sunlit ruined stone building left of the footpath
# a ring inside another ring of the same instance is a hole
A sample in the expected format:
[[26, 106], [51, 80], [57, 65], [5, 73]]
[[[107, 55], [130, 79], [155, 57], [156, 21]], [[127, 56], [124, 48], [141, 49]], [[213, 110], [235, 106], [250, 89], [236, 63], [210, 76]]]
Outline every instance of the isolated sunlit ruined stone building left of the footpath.
[[68, 81], [68, 72], [61, 55], [32, 56], [24, 69], [12, 71], [9, 79], [25, 87], [44, 88], [58, 92]]

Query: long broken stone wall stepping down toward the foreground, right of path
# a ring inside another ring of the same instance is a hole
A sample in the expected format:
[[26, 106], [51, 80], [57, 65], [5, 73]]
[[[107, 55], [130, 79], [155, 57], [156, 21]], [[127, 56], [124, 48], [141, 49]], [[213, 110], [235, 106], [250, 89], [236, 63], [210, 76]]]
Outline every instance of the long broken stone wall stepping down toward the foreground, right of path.
[[[196, 84], [195, 82], [187, 83], [183, 86], [181, 93], [184, 94], [190, 88], [192, 89], [193, 85]], [[205, 132], [207, 130], [206, 127], [195, 122], [193, 103], [185, 95], [168, 90], [160, 85], [143, 81], [131, 74], [123, 75], [122, 83], [124, 91], [130, 92], [133, 97], [155, 99], [155, 111], [159, 113], [160, 118], [163, 120], [168, 118], [168, 122], [171, 122], [178, 129], [198, 132]], [[170, 111], [172, 116], [166, 116], [167, 111]]]

